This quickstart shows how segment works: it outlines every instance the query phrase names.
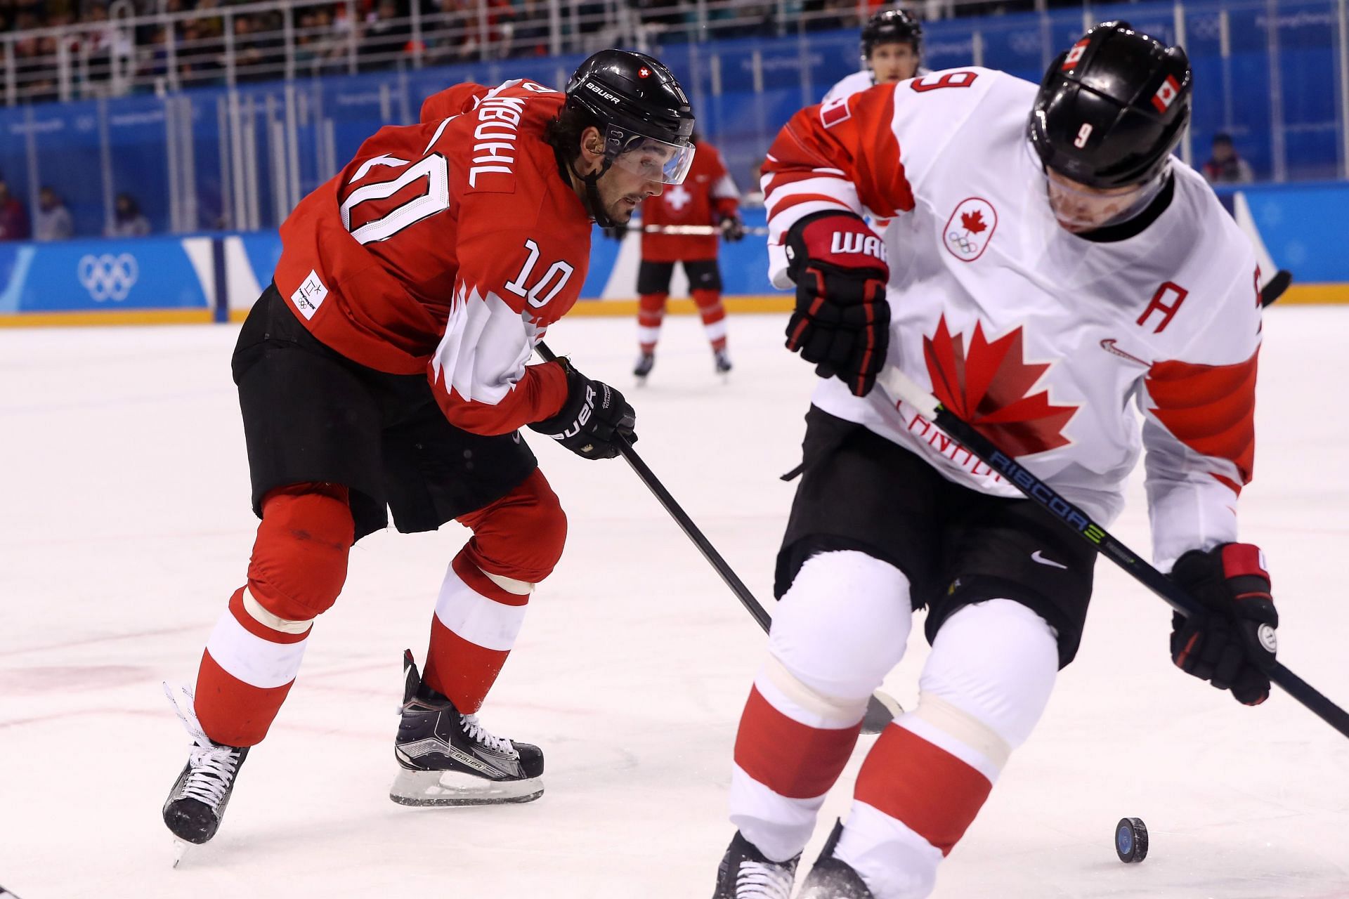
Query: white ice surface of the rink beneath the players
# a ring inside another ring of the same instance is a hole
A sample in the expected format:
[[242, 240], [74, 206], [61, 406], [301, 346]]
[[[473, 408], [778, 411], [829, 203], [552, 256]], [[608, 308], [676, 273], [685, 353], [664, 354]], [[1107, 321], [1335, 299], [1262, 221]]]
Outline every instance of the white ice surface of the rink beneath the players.
[[[633, 387], [634, 322], [549, 341], [638, 410], [638, 450], [770, 602], [811, 368], [781, 317], [734, 317], [730, 384], [696, 319]], [[530, 441], [571, 518], [484, 722], [538, 743], [523, 806], [387, 798], [399, 656], [425, 652], [457, 527], [375, 534], [314, 629], [220, 836], [175, 871], [159, 806], [192, 681], [243, 582], [255, 520], [227, 326], [0, 330], [0, 883], [23, 899], [706, 898], [731, 829], [735, 724], [764, 636], [622, 461]], [[1280, 658], [1349, 702], [1349, 309], [1265, 322], [1244, 536], [1268, 551]], [[1113, 528], [1147, 547], [1137, 484]], [[1349, 896], [1349, 741], [1283, 694], [1246, 709], [1175, 671], [1168, 609], [1102, 562], [1079, 659], [943, 865], [938, 896]], [[920, 628], [888, 679], [915, 697]], [[858, 756], [824, 818], [843, 814]], [[1124, 815], [1151, 852], [1116, 860]], [[822, 821], [807, 849], [817, 852]]]

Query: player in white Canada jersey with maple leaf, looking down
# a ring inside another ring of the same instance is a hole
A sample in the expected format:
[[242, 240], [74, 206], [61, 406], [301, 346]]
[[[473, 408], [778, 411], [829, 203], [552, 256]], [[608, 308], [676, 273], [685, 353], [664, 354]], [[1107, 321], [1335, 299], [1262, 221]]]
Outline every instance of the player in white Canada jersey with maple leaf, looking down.
[[[1278, 616], [1236, 516], [1259, 274], [1174, 163], [1188, 117], [1184, 51], [1112, 22], [1039, 92], [940, 71], [809, 106], [770, 148], [770, 274], [795, 283], [788, 348], [823, 380], [716, 899], [791, 895], [911, 609], [928, 608], [932, 643], [917, 708], [867, 752], [803, 899], [929, 895], [1078, 650], [1094, 551], [876, 387], [886, 365], [1102, 523], [1147, 449], [1156, 563], [1206, 609], [1174, 621], [1172, 660], [1244, 704], [1268, 697]], [[863, 213], [892, 220], [882, 239]]]

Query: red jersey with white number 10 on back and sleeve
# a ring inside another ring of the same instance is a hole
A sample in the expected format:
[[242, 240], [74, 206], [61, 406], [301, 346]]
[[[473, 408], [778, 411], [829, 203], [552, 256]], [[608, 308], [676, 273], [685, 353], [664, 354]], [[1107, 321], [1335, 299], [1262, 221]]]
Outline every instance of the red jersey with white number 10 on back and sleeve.
[[542, 139], [564, 98], [532, 81], [442, 90], [281, 226], [277, 288], [314, 337], [382, 372], [426, 372], [473, 433], [567, 398], [560, 365], [525, 364], [590, 264], [590, 216]]

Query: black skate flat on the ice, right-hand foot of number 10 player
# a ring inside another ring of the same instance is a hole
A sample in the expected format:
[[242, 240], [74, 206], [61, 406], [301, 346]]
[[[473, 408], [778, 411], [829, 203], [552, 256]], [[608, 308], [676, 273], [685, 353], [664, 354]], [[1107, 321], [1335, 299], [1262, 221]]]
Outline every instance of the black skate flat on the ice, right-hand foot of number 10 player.
[[405, 806], [529, 802], [544, 795], [538, 747], [492, 736], [476, 714], [461, 714], [422, 683], [403, 654], [403, 720], [394, 739], [398, 776], [389, 798]]

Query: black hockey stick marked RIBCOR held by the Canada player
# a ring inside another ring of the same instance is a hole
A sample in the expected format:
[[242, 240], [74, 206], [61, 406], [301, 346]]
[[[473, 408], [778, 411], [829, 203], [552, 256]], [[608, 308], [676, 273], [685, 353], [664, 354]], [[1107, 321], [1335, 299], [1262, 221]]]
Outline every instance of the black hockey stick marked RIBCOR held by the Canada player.
[[[1091, 516], [1059, 496], [1054, 488], [1024, 469], [1016, 460], [1000, 450], [993, 441], [956, 416], [951, 410], [942, 406], [935, 396], [913, 383], [898, 368], [893, 365], [886, 367], [878, 383], [893, 399], [908, 403], [925, 419], [959, 441], [965, 449], [974, 453], [985, 465], [1001, 474], [1008, 484], [1012, 484], [1025, 493], [1028, 499], [1048, 509], [1056, 519], [1063, 522], [1064, 527], [1075, 531], [1097, 553], [1105, 555], [1124, 569], [1133, 580], [1166, 600], [1172, 609], [1187, 617], [1202, 613], [1199, 604], [1171, 578], [1144, 562], [1139, 558], [1137, 553], [1124, 543], [1110, 536], [1103, 527], [1091, 520]], [[1326, 724], [1349, 737], [1349, 713], [1345, 713], [1344, 709], [1313, 689], [1310, 683], [1286, 669], [1283, 663], [1275, 663], [1273, 670], [1269, 673], [1269, 679], [1283, 687], [1294, 700], [1319, 716]]]

